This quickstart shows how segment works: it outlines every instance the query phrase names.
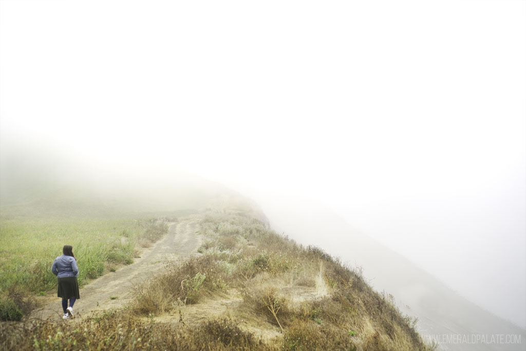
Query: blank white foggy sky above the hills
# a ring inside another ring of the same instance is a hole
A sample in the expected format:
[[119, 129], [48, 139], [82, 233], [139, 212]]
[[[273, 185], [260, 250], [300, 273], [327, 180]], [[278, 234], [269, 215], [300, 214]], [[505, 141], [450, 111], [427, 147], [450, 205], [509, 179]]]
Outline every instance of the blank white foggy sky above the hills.
[[0, 6], [4, 152], [310, 197], [526, 326], [526, 2]]

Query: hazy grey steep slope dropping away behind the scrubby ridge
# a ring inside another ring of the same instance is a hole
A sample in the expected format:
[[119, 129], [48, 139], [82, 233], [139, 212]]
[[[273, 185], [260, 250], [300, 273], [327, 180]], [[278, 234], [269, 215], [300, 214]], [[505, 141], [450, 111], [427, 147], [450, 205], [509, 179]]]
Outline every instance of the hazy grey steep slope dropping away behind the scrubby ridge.
[[[285, 204], [265, 210], [271, 225], [280, 233], [290, 235], [299, 242], [319, 245], [345, 262], [363, 268], [363, 275], [377, 291], [389, 292], [404, 313], [418, 317], [417, 330], [424, 338], [440, 342], [439, 349], [526, 349], [526, 330], [469, 302], [436, 277], [360, 233], [327, 208], [303, 203], [302, 207], [291, 208]], [[330, 235], [320, 236], [320, 233], [325, 232], [329, 232]], [[422, 248], [426, 249], [430, 248]], [[491, 284], [491, 278], [488, 278], [488, 284]], [[492, 336], [500, 335], [504, 338], [510, 336], [515, 342], [458, 342], [459, 337], [468, 337], [471, 340], [478, 336], [491, 339]]]

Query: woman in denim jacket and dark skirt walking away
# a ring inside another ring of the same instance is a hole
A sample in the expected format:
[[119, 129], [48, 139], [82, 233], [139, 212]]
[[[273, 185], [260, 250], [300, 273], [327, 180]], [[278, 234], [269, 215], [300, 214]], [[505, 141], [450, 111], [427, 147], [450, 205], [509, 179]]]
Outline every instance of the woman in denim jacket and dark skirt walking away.
[[78, 268], [77, 260], [73, 256], [73, 246], [64, 245], [62, 253], [62, 256], [55, 258], [51, 272], [58, 277], [57, 296], [62, 297], [62, 309], [64, 310], [62, 318], [68, 319], [73, 317], [73, 304], [77, 298], [80, 298], [77, 282]]

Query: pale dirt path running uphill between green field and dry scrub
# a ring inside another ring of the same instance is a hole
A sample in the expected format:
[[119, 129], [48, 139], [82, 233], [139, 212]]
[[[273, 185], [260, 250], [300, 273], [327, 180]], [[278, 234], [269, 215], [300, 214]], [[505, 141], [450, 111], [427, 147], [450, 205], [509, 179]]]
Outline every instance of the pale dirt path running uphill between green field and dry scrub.
[[[196, 234], [198, 230], [197, 216], [181, 218], [180, 222], [170, 226], [163, 239], [145, 249], [133, 264], [114, 273], [107, 273], [80, 289], [80, 299], [73, 307], [75, 317], [87, 316], [95, 310], [122, 307], [132, 296], [137, 282], [160, 272], [167, 261], [185, 258], [197, 252], [201, 244], [201, 236]], [[80, 264], [79, 269], [82, 269]], [[31, 318], [47, 318], [52, 315], [62, 318], [59, 298], [54, 298], [52, 303], [36, 310]]]

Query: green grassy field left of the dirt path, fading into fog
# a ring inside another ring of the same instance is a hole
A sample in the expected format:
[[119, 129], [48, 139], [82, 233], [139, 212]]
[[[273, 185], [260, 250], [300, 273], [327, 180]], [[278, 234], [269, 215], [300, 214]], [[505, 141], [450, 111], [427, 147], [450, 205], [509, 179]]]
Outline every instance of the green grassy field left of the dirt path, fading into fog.
[[27, 313], [35, 307], [32, 297], [54, 290], [51, 265], [64, 245], [73, 246], [79, 284], [84, 285], [119, 265], [133, 263], [137, 247], [161, 238], [169, 221], [189, 212], [119, 212], [66, 204], [4, 206], [0, 208], [0, 303], [11, 307], [14, 303]]

